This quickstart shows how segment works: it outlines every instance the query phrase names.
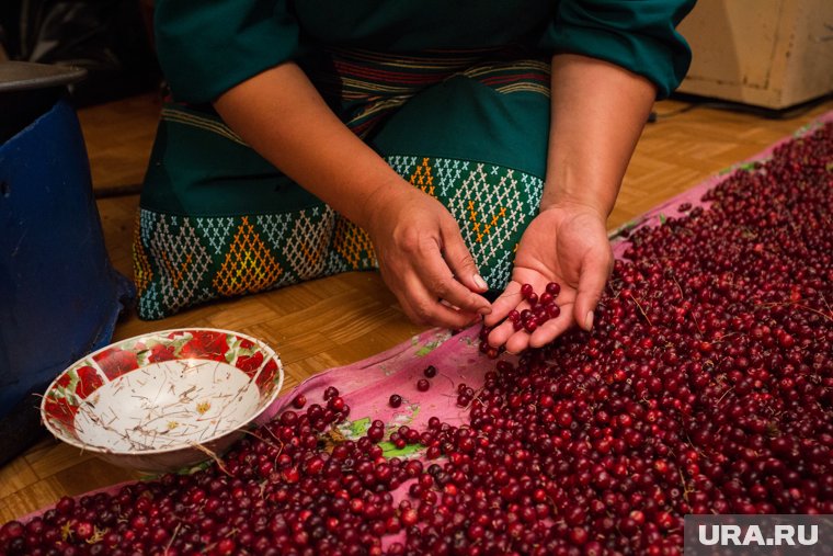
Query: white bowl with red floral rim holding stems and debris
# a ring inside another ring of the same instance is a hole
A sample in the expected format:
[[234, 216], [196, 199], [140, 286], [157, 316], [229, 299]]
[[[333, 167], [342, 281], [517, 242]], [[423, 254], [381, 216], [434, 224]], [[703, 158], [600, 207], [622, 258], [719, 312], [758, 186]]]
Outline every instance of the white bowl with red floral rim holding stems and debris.
[[77, 361], [41, 402], [59, 440], [146, 473], [182, 470], [225, 452], [274, 401], [278, 355], [228, 330], [187, 328], [113, 343]]

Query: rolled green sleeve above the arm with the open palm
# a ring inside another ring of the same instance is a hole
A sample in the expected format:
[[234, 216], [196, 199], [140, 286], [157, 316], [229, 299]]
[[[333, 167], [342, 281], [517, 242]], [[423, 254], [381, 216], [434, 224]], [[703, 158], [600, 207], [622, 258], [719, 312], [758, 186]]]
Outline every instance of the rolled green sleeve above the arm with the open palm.
[[692, 52], [676, 25], [695, 0], [562, 0], [541, 47], [600, 58], [646, 77], [664, 99], [688, 71]]

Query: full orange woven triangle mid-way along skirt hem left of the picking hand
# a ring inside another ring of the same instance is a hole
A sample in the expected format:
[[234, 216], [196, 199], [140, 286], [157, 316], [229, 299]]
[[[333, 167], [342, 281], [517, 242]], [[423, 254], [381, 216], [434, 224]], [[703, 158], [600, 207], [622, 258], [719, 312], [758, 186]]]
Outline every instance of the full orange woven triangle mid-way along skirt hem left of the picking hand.
[[274, 286], [283, 272], [254, 226], [249, 224], [249, 217], [243, 216], [226, 260], [214, 277], [214, 287], [221, 295], [261, 292]]

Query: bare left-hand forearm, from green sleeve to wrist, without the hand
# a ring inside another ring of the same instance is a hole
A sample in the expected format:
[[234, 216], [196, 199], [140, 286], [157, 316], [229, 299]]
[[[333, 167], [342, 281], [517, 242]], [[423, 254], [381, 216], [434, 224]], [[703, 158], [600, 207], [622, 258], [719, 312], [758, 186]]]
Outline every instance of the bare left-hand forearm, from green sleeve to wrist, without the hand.
[[215, 107], [261, 156], [360, 226], [367, 224], [369, 201], [379, 191], [404, 185], [293, 63], [232, 88]]

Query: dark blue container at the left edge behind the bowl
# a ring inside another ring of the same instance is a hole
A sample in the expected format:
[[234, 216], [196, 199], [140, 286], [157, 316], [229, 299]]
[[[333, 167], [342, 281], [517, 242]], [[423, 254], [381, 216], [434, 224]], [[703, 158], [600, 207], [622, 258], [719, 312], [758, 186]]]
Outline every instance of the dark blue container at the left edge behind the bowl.
[[0, 424], [107, 344], [134, 295], [110, 263], [83, 136], [61, 98], [0, 146]]

